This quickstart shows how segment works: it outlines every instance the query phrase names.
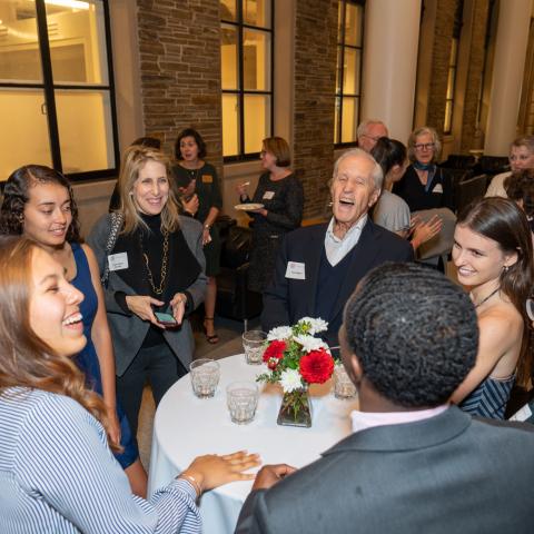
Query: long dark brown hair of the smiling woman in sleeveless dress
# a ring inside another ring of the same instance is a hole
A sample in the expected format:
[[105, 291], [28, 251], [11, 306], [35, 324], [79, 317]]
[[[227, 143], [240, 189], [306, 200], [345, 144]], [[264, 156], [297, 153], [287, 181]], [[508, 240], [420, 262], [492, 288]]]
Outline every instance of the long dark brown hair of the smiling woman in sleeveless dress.
[[531, 322], [526, 299], [534, 285], [532, 234], [524, 211], [507, 198], [476, 200], [459, 214], [457, 224], [497, 243], [504, 254], [517, 254], [517, 261], [500, 276], [500, 288], [523, 317], [523, 343], [517, 362], [517, 382], [523, 385], [532, 367]]

